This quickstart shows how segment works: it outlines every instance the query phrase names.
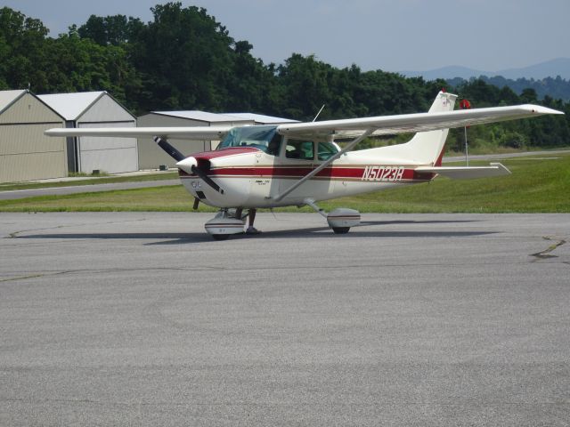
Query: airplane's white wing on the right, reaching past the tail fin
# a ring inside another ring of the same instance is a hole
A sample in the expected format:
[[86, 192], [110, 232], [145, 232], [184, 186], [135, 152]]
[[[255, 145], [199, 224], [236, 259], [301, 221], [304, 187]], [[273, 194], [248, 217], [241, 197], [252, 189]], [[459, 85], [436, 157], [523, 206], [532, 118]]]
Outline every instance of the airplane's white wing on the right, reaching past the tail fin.
[[352, 138], [367, 130], [371, 135], [395, 133], [415, 133], [448, 129], [469, 125], [514, 120], [517, 118], [537, 117], [545, 114], [564, 114], [556, 109], [526, 104], [513, 107], [493, 107], [489, 109], [460, 109], [398, 116], [379, 116], [366, 118], [350, 118], [344, 120], [327, 120], [322, 122], [279, 125], [278, 131], [283, 135], [296, 138], [327, 138], [331, 134], [335, 138]]

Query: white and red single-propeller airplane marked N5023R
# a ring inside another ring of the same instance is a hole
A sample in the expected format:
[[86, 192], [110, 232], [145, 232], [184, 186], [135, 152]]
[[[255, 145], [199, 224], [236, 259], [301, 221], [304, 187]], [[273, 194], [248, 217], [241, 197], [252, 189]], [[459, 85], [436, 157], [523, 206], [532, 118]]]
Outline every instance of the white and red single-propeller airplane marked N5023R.
[[[206, 222], [216, 240], [232, 234], [256, 234], [256, 209], [311, 206], [335, 233], [346, 233], [361, 215], [349, 208], [324, 212], [317, 202], [336, 197], [432, 181], [509, 174], [500, 163], [478, 167], [442, 166], [450, 128], [564, 114], [537, 105], [453, 110], [457, 95], [440, 92], [427, 113], [241, 127], [138, 127], [50, 129], [49, 136], [154, 138], [177, 161], [185, 189], [199, 203], [220, 208]], [[415, 133], [410, 141], [354, 150], [378, 135]], [[221, 140], [215, 150], [185, 156], [168, 140]], [[348, 141], [341, 148], [336, 141]], [[244, 211], [248, 211], [244, 214]], [[246, 226], [248, 227], [246, 228]]]

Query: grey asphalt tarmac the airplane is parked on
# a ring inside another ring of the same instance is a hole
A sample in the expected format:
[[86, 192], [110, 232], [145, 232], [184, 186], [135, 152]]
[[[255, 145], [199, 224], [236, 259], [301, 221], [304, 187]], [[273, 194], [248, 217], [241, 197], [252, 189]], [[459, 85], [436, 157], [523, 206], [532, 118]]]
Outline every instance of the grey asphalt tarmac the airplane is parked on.
[[570, 423], [570, 215], [0, 214], [0, 425]]

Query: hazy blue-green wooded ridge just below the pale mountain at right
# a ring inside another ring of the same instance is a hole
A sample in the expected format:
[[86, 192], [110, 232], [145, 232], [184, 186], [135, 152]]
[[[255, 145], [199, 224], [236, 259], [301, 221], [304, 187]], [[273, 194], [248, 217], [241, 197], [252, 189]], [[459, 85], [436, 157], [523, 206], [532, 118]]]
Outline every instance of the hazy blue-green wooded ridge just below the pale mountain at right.
[[[517, 78], [513, 80], [510, 78], [505, 78], [501, 76], [478, 77], [488, 83], [489, 85], [503, 87], [509, 86], [515, 93], [521, 94], [525, 89], [533, 89], [538, 95], [538, 98], [550, 96], [550, 98], [560, 99], [563, 101], [570, 101], [570, 81], [557, 76], [557, 77], [546, 77], [542, 79], [528, 79], [528, 78]], [[469, 79], [470, 81], [477, 80], [475, 77]], [[447, 83], [452, 86], [462, 85], [466, 82], [465, 79], [461, 77], [456, 77], [448, 79]]]

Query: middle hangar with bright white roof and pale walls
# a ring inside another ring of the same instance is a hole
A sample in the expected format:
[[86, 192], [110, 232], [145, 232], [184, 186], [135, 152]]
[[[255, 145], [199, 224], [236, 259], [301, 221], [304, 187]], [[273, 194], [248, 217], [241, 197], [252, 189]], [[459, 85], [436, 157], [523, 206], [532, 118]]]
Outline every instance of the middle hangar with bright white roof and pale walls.
[[[135, 127], [136, 118], [107, 92], [58, 93], [38, 98], [65, 119], [66, 127]], [[135, 138], [67, 138], [69, 172], [139, 169]]]

